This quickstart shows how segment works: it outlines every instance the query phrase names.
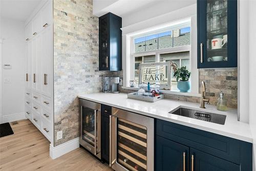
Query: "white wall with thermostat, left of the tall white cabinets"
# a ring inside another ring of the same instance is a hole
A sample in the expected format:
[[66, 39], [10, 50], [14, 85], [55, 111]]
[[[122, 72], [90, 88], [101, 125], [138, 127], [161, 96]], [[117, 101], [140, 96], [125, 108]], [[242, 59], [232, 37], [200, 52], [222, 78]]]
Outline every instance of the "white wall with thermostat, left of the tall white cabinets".
[[[10, 122], [25, 118], [25, 22], [2, 18], [1, 36], [3, 41], [2, 64], [12, 66], [6, 70], [1, 66], [2, 75], [2, 121]], [[6, 79], [10, 82], [7, 83]]]

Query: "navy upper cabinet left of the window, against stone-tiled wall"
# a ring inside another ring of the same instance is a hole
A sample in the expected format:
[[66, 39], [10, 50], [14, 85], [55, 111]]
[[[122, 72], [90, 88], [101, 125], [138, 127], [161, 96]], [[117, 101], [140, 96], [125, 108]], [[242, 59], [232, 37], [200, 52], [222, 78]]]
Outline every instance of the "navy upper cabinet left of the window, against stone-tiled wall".
[[122, 18], [107, 13], [99, 17], [99, 70], [122, 69]]

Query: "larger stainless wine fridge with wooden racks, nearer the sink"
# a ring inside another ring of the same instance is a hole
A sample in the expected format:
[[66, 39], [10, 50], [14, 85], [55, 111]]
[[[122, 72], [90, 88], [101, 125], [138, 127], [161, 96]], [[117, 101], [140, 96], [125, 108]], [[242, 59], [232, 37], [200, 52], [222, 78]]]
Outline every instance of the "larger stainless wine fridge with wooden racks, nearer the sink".
[[110, 166], [114, 170], [154, 170], [154, 119], [112, 108]]

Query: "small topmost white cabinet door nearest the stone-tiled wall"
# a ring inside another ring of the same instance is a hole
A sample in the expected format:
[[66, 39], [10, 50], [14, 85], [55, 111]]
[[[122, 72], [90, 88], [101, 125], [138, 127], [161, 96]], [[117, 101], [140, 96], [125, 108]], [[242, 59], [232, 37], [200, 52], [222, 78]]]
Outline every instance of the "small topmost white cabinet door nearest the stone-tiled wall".
[[52, 25], [52, 20], [53, 20], [53, 5], [52, 1], [48, 1], [44, 7], [41, 9], [41, 27], [47, 28], [48, 26]]

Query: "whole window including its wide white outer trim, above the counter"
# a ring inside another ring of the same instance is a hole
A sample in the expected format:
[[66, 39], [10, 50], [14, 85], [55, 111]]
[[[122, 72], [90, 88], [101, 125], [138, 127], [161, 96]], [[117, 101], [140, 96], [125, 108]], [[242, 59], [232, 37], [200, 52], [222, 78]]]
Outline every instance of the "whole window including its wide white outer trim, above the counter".
[[[191, 21], [194, 23], [192, 28]], [[124, 33], [124, 86], [129, 87], [130, 80], [135, 80], [138, 86], [138, 84], [141, 83], [139, 82], [139, 76], [141, 76], [141, 78], [146, 77], [145, 74], [148, 73], [144, 70], [141, 72], [141, 75], [139, 73], [140, 63], [166, 63], [172, 61], [176, 63], [178, 68], [186, 66], [187, 70], [191, 72], [191, 93], [198, 93], [199, 71], [196, 65], [197, 49], [196, 46], [194, 46], [194, 44], [196, 45], [197, 43], [197, 29], [195, 23], [196, 17], [193, 16], [191, 18], [177, 20], [177, 22], [160, 25], [158, 27], [147, 28], [140, 31], [133, 29], [132, 33]], [[194, 50], [191, 51], [191, 48], [194, 48]], [[192, 58], [193, 61], [191, 60]], [[147, 69], [149, 70], [150, 67], [147, 67]], [[175, 92], [178, 91], [173, 69], [168, 71], [165, 66], [161, 68], [161, 70], [152, 69], [151, 71], [162, 73], [164, 75], [164, 81], [171, 82], [171, 87], [168, 90]], [[147, 81], [144, 83], [147, 83]], [[151, 83], [153, 82], [151, 81]], [[154, 83], [159, 84], [159, 81]]]

